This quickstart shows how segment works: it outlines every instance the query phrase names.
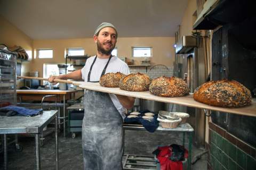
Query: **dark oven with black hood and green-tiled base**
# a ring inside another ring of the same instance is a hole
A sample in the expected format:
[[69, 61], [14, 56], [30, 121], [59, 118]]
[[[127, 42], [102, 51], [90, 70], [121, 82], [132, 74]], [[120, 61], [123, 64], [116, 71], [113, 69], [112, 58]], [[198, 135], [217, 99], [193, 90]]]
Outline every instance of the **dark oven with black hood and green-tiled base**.
[[[213, 30], [211, 80], [233, 79], [256, 93], [256, 12], [251, 1], [216, 1], [197, 19]], [[256, 117], [211, 111], [209, 169], [256, 169]]]

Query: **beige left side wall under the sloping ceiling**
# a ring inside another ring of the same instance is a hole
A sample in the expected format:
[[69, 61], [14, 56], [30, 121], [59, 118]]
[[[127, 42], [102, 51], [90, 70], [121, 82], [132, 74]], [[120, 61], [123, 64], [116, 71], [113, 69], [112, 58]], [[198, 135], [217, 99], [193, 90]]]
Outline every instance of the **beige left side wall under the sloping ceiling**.
[[[29, 55], [29, 58], [32, 58], [32, 39], [24, 34], [20, 29], [13, 26], [12, 23], [7, 21], [0, 15], [0, 44], [5, 44], [9, 47], [18, 45], [23, 47]], [[20, 61], [18, 61], [20, 62]], [[22, 62], [21, 64], [21, 75], [26, 75], [29, 71], [30, 62]], [[17, 85], [22, 86], [22, 82], [17, 81]]]

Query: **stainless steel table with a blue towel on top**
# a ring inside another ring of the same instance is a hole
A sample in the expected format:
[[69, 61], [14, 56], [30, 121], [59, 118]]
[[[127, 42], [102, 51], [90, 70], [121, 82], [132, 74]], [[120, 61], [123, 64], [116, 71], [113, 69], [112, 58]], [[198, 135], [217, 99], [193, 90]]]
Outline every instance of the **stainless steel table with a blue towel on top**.
[[27, 117], [27, 116], [0, 116], [0, 134], [4, 134], [4, 168], [7, 169], [7, 134], [28, 133], [35, 134], [36, 144], [36, 169], [41, 169], [39, 133], [43, 128], [55, 118], [55, 167], [59, 168], [58, 164], [58, 118], [57, 110], [44, 111], [43, 114]]

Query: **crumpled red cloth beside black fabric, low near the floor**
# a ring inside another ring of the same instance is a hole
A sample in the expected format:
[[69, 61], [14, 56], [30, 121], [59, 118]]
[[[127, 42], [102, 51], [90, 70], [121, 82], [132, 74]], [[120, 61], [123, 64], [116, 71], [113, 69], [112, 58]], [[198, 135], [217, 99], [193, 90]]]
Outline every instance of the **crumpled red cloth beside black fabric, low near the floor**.
[[[172, 155], [171, 147], [158, 147], [160, 150], [157, 159], [161, 165], [161, 170], [182, 170], [182, 161], [172, 161], [169, 157]], [[188, 157], [188, 151], [185, 149], [184, 157]]]

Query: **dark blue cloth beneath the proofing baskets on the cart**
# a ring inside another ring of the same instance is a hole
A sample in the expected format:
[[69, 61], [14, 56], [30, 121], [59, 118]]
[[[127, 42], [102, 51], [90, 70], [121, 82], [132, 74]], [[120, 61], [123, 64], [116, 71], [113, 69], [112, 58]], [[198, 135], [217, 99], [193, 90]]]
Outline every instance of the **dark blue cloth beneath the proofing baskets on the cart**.
[[141, 123], [143, 127], [145, 127], [145, 129], [148, 132], [155, 132], [157, 127], [159, 126], [158, 121], [157, 121], [157, 115], [154, 115], [154, 119], [151, 121], [145, 120], [142, 118], [142, 116], [145, 116], [144, 114], [146, 112], [150, 112], [150, 111], [141, 111], [140, 115], [138, 117], [132, 117], [132, 118], [127, 118], [125, 117], [124, 122], [125, 123]]

